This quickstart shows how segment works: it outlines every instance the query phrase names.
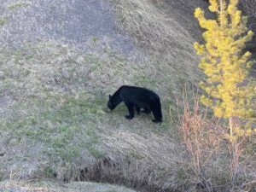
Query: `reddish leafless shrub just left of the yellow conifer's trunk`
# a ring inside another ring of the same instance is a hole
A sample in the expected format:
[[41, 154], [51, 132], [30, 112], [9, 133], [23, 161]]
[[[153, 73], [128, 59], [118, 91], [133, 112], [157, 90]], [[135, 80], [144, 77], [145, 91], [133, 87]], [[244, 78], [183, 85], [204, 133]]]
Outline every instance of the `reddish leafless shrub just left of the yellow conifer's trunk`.
[[[214, 177], [214, 173], [207, 171], [209, 166], [213, 166], [212, 160], [217, 158], [224, 134], [216, 120], [208, 120], [207, 115], [201, 115], [197, 96], [193, 102], [195, 103], [191, 109], [187, 96], [183, 97], [179, 131], [189, 153], [189, 166], [200, 181], [200, 185], [207, 191], [213, 191], [216, 183], [211, 178]], [[221, 170], [218, 166], [213, 169]]]

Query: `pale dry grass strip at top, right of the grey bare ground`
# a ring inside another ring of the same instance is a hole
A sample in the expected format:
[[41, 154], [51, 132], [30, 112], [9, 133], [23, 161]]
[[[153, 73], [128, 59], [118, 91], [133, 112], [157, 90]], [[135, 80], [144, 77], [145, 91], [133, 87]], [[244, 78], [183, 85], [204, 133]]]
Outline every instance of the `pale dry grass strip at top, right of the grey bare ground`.
[[[152, 53], [177, 53], [179, 49], [189, 49], [189, 38], [182, 26], [167, 18], [157, 6], [165, 6], [162, 1], [113, 0], [119, 24], [125, 32], [134, 37], [136, 44]], [[183, 31], [181, 33], [177, 31]]]

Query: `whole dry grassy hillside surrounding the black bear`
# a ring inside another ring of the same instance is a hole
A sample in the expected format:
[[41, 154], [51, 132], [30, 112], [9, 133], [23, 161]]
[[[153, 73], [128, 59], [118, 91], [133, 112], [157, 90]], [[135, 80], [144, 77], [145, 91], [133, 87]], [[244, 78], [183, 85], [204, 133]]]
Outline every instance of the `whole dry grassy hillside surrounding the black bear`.
[[[75, 2], [63, 0], [61, 9], [77, 9], [79, 3]], [[40, 26], [32, 33], [37, 38], [32, 39], [27, 38], [31, 34], [26, 34], [30, 31], [24, 27], [21, 37], [27, 37], [19, 42], [21, 46], [10, 44], [12, 38], [6, 40], [6, 30], [19, 29], [15, 15], [21, 17], [49, 2], [4, 3], [4, 19], [0, 18], [0, 31], [4, 29], [0, 49], [0, 181], [43, 178], [125, 184], [142, 191], [195, 189], [198, 181], [190, 178], [186, 151], [170, 112], [177, 120], [175, 96], [181, 98], [184, 85], [197, 84], [201, 77], [192, 48], [200, 38], [193, 9], [205, 6], [199, 2], [112, 0], [109, 10], [103, 12], [109, 15], [108, 22], [115, 21], [109, 24], [113, 28], [102, 29], [95, 36], [88, 33], [79, 42], [80, 38], [68, 38], [65, 23], [64, 31], [51, 32], [47, 31], [49, 26]], [[51, 3], [53, 11], [59, 8], [58, 1]], [[87, 3], [91, 10], [98, 10], [93, 2]], [[29, 19], [22, 22], [30, 27]], [[125, 40], [119, 36], [131, 37], [124, 38], [131, 47], [124, 48]], [[127, 120], [124, 104], [108, 113], [108, 95], [122, 84], [157, 92], [164, 122], [155, 125], [151, 114]], [[222, 184], [222, 177], [217, 180]], [[0, 189], [4, 184], [0, 183]]]

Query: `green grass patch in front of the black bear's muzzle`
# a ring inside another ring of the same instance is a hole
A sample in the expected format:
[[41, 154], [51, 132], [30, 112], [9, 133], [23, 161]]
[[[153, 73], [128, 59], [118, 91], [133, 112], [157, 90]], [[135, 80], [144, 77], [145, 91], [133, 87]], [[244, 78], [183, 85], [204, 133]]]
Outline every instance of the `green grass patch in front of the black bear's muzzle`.
[[47, 101], [33, 98], [16, 108], [40, 108], [40, 111], [26, 111], [26, 116], [21, 117], [16, 114], [5, 124], [5, 129], [12, 131], [14, 137], [44, 143], [49, 148], [45, 153], [51, 157], [70, 161], [86, 148], [92, 156], [100, 158], [102, 152], [97, 149], [100, 129], [94, 123], [103, 118], [102, 103], [105, 102], [102, 98], [88, 99], [86, 93], [79, 97], [48, 96]]

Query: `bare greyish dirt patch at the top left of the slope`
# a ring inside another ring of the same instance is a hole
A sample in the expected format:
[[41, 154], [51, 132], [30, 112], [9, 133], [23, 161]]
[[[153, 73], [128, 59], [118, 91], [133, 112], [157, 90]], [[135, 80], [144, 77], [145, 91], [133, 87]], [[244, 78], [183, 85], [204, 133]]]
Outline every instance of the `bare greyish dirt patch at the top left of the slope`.
[[115, 30], [113, 13], [106, 1], [8, 0], [1, 3], [6, 18], [0, 32], [2, 46], [22, 46], [34, 39], [61, 40], [90, 51], [91, 38], [104, 39], [112, 49], [131, 54], [135, 47], [128, 36]]

